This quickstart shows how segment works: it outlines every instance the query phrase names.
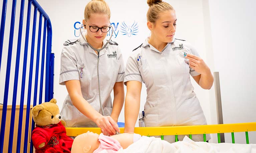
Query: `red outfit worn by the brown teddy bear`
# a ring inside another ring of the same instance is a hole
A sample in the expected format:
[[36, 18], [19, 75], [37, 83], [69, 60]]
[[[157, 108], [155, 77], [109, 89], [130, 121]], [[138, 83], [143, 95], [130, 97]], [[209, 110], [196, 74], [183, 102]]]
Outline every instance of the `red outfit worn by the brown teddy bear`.
[[[31, 137], [36, 153], [70, 153], [73, 139], [66, 135], [66, 129], [61, 122], [36, 126]], [[45, 146], [38, 148], [43, 142], [45, 142]]]

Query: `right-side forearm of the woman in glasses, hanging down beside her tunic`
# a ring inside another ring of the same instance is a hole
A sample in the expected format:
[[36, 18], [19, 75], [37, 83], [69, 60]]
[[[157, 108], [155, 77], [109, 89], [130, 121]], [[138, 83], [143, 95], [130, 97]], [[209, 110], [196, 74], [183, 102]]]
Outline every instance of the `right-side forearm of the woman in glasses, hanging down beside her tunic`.
[[118, 93], [114, 94], [113, 100], [113, 109], [111, 113], [111, 117], [115, 122], [117, 122], [121, 109], [123, 107], [124, 102], [124, 91], [119, 91]]

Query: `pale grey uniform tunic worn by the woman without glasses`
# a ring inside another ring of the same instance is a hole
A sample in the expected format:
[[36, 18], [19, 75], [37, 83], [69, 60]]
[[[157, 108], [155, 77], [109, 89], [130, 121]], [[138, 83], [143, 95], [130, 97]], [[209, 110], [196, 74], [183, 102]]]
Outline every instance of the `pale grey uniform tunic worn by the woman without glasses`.
[[[124, 82], [137, 80], [147, 87], [144, 105], [145, 126], [205, 125], [206, 118], [191, 84], [190, 75], [200, 75], [190, 68], [184, 53], [198, 53], [190, 44], [174, 39], [162, 52], [148, 43], [148, 39], [129, 57]], [[184, 135], [178, 139], [183, 140]], [[164, 136], [174, 142], [175, 136]], [[192, 135], [203, 141], [203, 135]], [[207, 140], [210, 135], [207, 135]]]

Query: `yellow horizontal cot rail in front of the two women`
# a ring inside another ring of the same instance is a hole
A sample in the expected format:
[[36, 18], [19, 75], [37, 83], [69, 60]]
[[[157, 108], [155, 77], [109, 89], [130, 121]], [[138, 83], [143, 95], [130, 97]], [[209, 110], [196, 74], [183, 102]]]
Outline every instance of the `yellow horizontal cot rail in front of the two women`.
[[[123, 133], [124, 128], [120, 128]], [[79, 134], [91, 131], [100, 134], [100, 128], [90, 127], [67, 127], [68, 136], [77, 136]], [[190, 135], [218, 133], [218, 142], [220, 142], [220, 133], [232, 133], [232, 142], [234, 141], [234, 132], [246, 132], [246, 142], [249, 143], [248, 132], [256, 131], [256, 122], [251, 123], [234, 123], [234, 124], [215, 124], [215, 125], [193, 125], [193, 126], [161, 126], [161, 127], [135, 127], [134, 133], [145, 136], [154, 135]], [[205, 140], [206, 141], [206, 140]]]

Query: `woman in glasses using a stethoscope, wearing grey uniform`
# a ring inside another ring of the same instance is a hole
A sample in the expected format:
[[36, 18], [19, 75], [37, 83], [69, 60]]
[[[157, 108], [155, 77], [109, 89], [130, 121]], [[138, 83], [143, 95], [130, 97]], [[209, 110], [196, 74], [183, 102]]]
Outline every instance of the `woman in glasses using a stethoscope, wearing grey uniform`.
[[78, 40], [65, 42], [59, 79], [68, 91], [60, 112], [67, 127], [98, 126], [104, 135], [120, 131], [117, 120], [124, 101], [122, 55], [117, 43], [105, 40], [111, 28], [109, 19], [104, 0], [86, 5], [83, 25], [87, 32]]

